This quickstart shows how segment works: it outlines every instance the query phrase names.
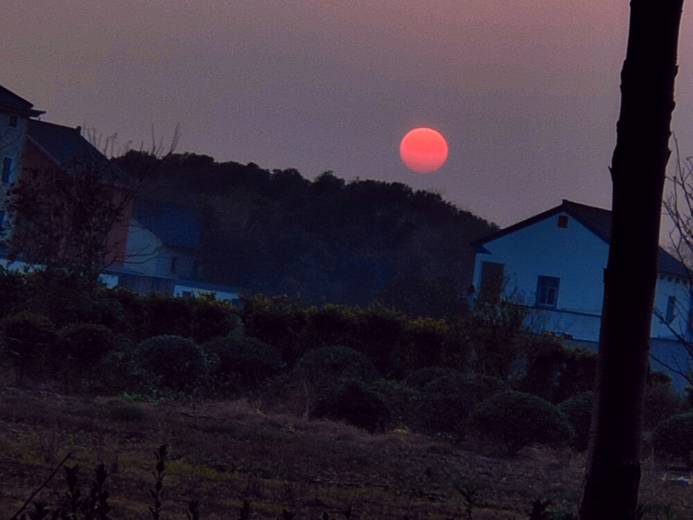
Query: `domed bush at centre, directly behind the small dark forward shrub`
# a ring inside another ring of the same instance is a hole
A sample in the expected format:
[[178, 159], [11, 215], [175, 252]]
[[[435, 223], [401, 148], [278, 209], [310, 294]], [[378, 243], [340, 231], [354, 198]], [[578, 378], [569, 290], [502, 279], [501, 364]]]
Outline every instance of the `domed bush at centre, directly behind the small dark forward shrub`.
[[371, 383], [380, 377], [373, 361], [349, 347], [322, 347], [305, 354], [294, 369], [295, 376], [313, 385], [330, 385], [338, 379]]

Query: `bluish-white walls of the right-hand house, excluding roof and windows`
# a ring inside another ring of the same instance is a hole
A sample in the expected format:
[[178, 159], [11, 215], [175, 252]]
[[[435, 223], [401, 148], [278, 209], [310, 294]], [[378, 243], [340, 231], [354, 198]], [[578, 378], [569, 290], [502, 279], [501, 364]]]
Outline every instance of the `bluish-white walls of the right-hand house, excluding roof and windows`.
[[[559, 215], [568, 227], [559, 227]], [[505, 264], [505, 297], [532, 307], [528, 324], [536, 331], [552, 331], [576, 340], [597, 342], [604, 300], [604, 269], [608, 244], [567, 213], [556, 214], [498, 239], [484, 243], [489, 253], [477, 253], [474, 286], [481, 284], [484, 261]], [[536, 305], [540, 275], [560, 279], [555, 309]], [[690, 297], [676, 278], [658, 278], [655, 307], [666, 314], [669, 296], [678, 302], [671, 325], [687, 331]], [[659, 318], [652, 320], [653, 338], [673, 338]]]

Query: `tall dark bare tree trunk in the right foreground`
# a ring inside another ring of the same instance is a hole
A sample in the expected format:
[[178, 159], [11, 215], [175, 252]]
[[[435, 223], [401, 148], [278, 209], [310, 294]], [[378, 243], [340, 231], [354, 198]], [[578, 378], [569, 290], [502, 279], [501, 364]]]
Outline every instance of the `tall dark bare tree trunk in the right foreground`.
[[642, 396], [657, 279], [660, 214], [674, 110], [683, 0], [632, 0], [611, 163], [611, 247], [597, 405], [581, 520], [635, 519]]

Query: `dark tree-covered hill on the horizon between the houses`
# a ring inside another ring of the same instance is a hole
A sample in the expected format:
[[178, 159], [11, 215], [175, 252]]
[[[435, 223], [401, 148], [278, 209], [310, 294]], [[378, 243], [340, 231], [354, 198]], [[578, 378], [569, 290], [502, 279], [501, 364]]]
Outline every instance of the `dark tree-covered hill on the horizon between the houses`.
[[[139, 171], [151, 169], [151, 160], [130, 152], [116, 162]], [[330, 171], [310, 181], [295, 169], [189, 153], [157, 168], [139, 195], [150, 201], [198, 214], [213, 281], [309, 304], [379, 300], [412, 314], [464, 307], [474, 265], [469, 243], [495, 230], [437, 193], [399, 182], [345, 182]], [[447, 303], [430, 305], [439, 301]]]

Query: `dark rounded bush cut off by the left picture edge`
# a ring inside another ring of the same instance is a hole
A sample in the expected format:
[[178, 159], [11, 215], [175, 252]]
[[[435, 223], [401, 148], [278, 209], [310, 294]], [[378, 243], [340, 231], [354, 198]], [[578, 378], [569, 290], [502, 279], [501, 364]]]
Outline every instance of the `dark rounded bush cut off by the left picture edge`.
[[6, 337], [9, 356], [17, 367], [18, 379], [29, 372], [42, 372], [46, 354], [55, 346], [58, 334], [46, 316], [21, 312], [0, 323]]

